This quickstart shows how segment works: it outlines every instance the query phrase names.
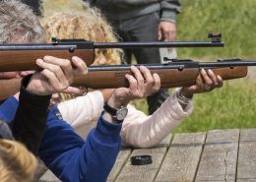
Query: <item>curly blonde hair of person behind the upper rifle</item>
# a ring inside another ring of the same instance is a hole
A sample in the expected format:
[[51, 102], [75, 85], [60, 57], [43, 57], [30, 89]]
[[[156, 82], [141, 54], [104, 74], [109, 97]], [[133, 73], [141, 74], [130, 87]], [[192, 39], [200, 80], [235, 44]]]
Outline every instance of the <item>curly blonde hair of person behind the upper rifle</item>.
[[[83, 38], [96, 42], [117, 41], [112, 28], [101, 17], [97, 9], [85, 5], [83, 13], [57, 13], [46, 18], [43, 22], [46, 39], [51, 41], [52, 37], [59, 39]], [[116, 65], [120, 64], [120, 50], [96, 49], [96, 60], [94, 65]]]

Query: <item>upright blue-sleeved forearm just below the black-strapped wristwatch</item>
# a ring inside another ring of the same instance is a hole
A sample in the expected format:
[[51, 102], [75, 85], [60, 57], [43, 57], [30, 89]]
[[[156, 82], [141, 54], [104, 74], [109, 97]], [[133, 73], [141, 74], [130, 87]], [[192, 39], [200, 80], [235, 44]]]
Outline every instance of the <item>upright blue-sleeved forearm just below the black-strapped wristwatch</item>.
[[[100, 130], [98, 130], [99, 128]], [[103, 120], [103, 117], [99, 118], [96, 129], [89, 134], [87, 140], [87, 143], [93, 147], [92, 150], [96, 158], [91, 157], [92, 162], [88, 167], [86, 181], [106, 181], [121, 147], [120, 131], [121, 124], [111, 124], [109, 121]], [[98, 171], [100, 167], [101, 171]], [[99, 173], [100, 175], [98, 175]]]

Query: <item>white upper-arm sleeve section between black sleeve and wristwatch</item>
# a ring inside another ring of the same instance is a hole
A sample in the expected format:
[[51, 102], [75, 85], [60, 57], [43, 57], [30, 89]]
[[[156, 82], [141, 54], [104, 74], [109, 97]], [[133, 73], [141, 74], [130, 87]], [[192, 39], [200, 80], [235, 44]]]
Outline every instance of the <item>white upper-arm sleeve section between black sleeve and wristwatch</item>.
[[91, 91], [59, 103], [58, 109], [63, 120], [77, 130], [90, 122], [95, 122], [102, 112], [103, 104], [101, 91]]

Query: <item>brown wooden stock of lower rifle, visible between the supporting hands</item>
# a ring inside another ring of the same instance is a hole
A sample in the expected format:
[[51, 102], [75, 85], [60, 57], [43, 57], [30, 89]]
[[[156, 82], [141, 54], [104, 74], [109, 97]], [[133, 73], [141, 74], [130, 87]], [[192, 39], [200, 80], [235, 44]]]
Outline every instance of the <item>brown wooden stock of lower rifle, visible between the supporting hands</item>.
[[[199, 69], [190, 68], [183, 71], [176, 69], [151, 70], [151, 73], [158, 73], [160, 76], [161, 88], [176, 88], [181, 86], [192, 86], [195, 84]], [[130, 70], [124, 71], [93, 71], [76, 77], [74, 86], [83, 86], [91, 89], [115, 89], [129, 87], [125, 78], [126, 74], [132, 74]]]

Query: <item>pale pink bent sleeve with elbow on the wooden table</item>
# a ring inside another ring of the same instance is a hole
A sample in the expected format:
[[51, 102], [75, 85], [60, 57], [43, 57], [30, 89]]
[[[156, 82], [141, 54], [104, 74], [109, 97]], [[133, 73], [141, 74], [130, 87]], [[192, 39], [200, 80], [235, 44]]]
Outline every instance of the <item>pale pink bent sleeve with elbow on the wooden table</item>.
[[189, 103], [183, 110], [174, 91], [151, 116], [145, 115], [132, 105], [128, 105], [128, 115], [124, 119], [121, 137], [125, 145], [149, 148], [160, 143], [181, 121], [192, 113]]

